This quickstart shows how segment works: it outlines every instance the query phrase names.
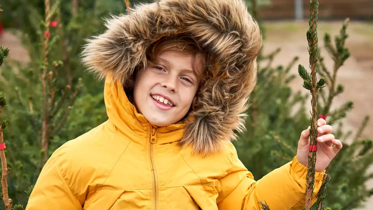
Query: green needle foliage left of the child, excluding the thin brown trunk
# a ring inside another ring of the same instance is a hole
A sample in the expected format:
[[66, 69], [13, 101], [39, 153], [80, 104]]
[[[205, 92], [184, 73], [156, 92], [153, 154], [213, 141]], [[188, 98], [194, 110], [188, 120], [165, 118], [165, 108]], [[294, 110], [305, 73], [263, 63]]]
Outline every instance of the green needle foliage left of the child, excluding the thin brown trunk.
[[[70, 10], [70, 4], [63, 4], [63, 1], [61, 4], [57, 3], [51, 5], [51, 21], [58, 23], [57, 27], [49, 26], [47, 63], [43, 57], [44, 31], [47, 27], [44, 13], [29, 2], [22, 4], [25, 5], [22, 8], [27, 8], [34, 15], [22, 23], [29, 26], [21, 28], [20, 38], [30, 52], [30, 62], [8, 59], [1, 67], [2, 91], [11, 104], [3, 112], [4, 118], [9, 122], [8, 128], [4, 130], [4, 139], [8, 141], [6, 155], [10, 168], [9, 196], [13, 203], [23, 206], [26, 205], [28, 196], [25, 191], [36, 182], [42, 166], [41, 157], [45, 154], [41, 145], [43, 71], [47, 70], [46, 93], [50, 122], [48, 156], [66, 141], [107, 119], [103, 83], [97, 83], [93, 75], [87, 74], [79, 62], [79, 54], [85, 38], [102, 33], [102, 18], [109, 15], [107, 9], [114, 8], [116, 12], [120, 12], [124, 6], [122, 3], [111, 4], [109, 1], [97, 0], [91, 8], [86, 10], [83, 5], [73, 15], [64, 13]], [[43, 4], [41, 6], [44, 7]], [[79, 84], [79, 81], [82, 83]], [[80, 89], [75, 96], [78, 86]], [[53, 97], [51, 93], [54, 93]]]

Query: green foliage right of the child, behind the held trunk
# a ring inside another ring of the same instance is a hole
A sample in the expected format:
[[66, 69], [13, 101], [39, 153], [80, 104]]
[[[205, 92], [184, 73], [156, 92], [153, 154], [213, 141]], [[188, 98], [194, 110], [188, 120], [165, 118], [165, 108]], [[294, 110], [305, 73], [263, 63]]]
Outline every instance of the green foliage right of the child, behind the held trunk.
[[[344, 43], [345, 38], [348, 37], [345, 33], [345, 25], [347, 21], [343, 24], [340, 34], [335, 37], [337, 43]], [[328, 34], [326, 36], [330, 37]], [[347, 101], [341, 107], [327, 111], [330, 110], [335, 96], [344, 90], [342, 84], [336, 85], [336, 77], [341, 67], [340, 64], [347, 59], [348, 49], [344, 44], [336, 46], [332, 43], [329, 43], [329, 46], [325, 44], [326, 48], [332, 47], [336, 49], [335, 52], [340, 52], [329, 54], [331, 57], [339, 56], [332, 57], [335, 61], [335, 65], [331, 67], [333, 74], [329, 73], [328, 67], [322, 62], [323, 58], [320, 53], [318, 55], [321, 61], [318, 63], [318, 73], [325, 77], [325, 84], [329, 91], [319, 89], [320, 100], [317, 105], [319, 110], [317, 114], [326, 115], [327, 124], [335, 127], [333, 131], [335, 138], [340, 139], [344, 144], [342, 151], [336, 155], [326, 169], [330, 180], [327, 183], [326, 196], [323, 200], [325, 210], [356, 209], [362, 207], [364, 202], [373, 195], [373, 189], [366, 187], [366, 182], [373, 177], [373, 173], [368, 170], [373, 163], [373, 142], [371, 139], [361, 139], [369, 117], [363, 119], [355, 136], [351, 136], [352, 132], [345, 129], [341, 120], [353, 108], [352, 102]], [[295, 75], [289, 75], [289, 68], [294, 66], [297, 58], [294, 58], [286, 68], [273, 67], [272, 62], [278, 52], [279, 49], [259, 59], [258, 84], [250, 96], [251, 106], [247, 110], [247, 132], [235, 142], [239, 158], [253, 173], [256, 180], [291, 161], [297, 152], [301, 132], [310, 126], [310, 113], [305, 108], [310, 101], [310, 94], [293, 93], [288, 87], [288, 83], [295, 78]], [[303, 71], [303, 67], [298, 66], [299, 69], [301, 70], [298, 74], [303, 79], [310, 76]], [[352, 141], [351, 144], [348, 143], [349, 140]], [[317, 203], [313, 209], [317, 209], [316, 205]]]

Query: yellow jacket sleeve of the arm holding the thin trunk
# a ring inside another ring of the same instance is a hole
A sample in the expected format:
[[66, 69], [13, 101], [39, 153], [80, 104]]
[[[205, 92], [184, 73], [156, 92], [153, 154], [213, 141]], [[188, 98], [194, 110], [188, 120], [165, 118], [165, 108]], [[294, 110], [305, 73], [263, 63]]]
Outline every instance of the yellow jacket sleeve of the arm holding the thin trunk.
[[[315, 172], [312, 204], [322, 184], [325, 170]], [[219, 210], [261, 210], [259, 201], [266, 201], [271, 210], [301, 210], [305, 204], [307, 167], [292, 161], [255, 181], [233, 151], [232, 169], [220, 180], [221, 192], [217, 198]]]

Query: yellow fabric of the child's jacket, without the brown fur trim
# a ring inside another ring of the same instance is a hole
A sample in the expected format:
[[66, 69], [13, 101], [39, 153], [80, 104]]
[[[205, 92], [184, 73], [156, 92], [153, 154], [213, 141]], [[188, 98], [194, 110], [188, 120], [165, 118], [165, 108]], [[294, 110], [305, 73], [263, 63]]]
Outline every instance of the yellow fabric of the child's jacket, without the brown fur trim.
[[[256, 182], [231, 143], [191, 156], [176, 145], [182, 124], [152, 128], [120, 87], [106, 81], [110, 119], [54, 152], [26, 210], [259, 210], [264, 200], [271, 210], [304, 207], [307, 168], [296, 158]], [[322, 177], [316, 172], [314, 195]]]

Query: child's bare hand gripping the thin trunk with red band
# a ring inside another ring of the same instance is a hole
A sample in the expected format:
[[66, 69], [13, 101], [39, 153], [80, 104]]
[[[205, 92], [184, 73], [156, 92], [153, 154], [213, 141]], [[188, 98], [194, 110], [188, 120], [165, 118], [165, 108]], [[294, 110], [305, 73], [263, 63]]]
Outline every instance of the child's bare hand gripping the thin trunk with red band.
[[[332, 161], [335, 155], [342, 149], [342, 142], [338, 139], [334, 139], [332, 126], [327, 125], [324, 119], [320, 118], [317, 120], [317, 126], [319, 127], [317, 128], [318, 135], [315, 170], [316, 172], [322, 172], [327, 166], [329, 166], [330, 161]], [[310, 127], [301, 133], [298, 142], [297, 160], [305, 167], [308, 167]]]

